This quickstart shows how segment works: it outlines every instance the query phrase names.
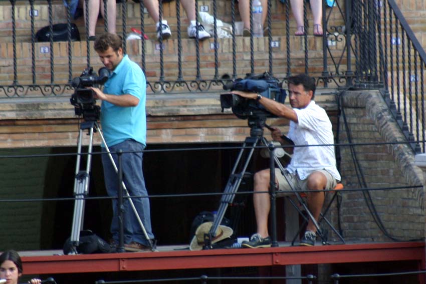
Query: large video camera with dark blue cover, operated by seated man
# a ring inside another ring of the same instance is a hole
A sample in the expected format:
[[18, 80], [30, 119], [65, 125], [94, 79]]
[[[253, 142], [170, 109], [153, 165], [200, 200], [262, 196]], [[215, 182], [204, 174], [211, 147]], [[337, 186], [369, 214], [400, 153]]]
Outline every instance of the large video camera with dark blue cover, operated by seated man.
[[[229, 82], [224, 85], [225, 90], [255, 92], [263, 97], [284, 103], [286, 91], [280, 87], [277, 78], [271, 76], [268, 72], [260, 75], [248, 75], [245, 79], [237, 79], [235, 82]], [[259, 102], [246, 99], [235, 94], [221, 94], [221, 107], [232, 109], [232, 112], [241, 119], [257, 117], [274, 117]]]

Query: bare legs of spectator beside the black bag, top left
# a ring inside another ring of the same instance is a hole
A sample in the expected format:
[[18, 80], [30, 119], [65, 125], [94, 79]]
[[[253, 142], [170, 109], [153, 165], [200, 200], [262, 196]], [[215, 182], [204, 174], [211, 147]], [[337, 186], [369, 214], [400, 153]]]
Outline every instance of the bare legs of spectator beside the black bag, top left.
[[[89, 41], [94, 41], [96, 39], [95, 30], [96, 23], [98, 21], [99, 12], [102, 17], [105, 19], [104, 15], [104, 2], [103, 0], [87, 0], [89, 5], [89, 23], [85, 25], [88, 26], [87, 36]], [[67, 6], [67, 0], [64, 0], [65, 5]], [[117, 7], [116, 0], [107, 0], [107, 13], [108, 13], [108, 32], [115, 34], [116, 33], [116, 17], [117, 17]], [[80, 11], [83, 10], [84, 21], [86, 21], [86, 4], [85, 0], [71, 0], [70, 1], [70, 10], [71, 15], [74, 19], [77, 19], [80, 16]]]

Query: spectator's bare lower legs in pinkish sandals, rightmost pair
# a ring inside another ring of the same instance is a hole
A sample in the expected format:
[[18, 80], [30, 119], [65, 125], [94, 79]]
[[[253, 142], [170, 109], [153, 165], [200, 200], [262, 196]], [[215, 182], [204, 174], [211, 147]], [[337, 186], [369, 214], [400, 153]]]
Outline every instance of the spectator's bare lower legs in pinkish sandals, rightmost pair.
[[[296, 20], [295, 36], [305, 35], [305, 25], [303, 21], [303, 1], [304, 0], [290, 0], [291, 9], [293, 11], [294, 19]], [[314, 18], [314, 36], [322, 37], [322, 2], [321, 0], [311, 0], [312, 16]]]

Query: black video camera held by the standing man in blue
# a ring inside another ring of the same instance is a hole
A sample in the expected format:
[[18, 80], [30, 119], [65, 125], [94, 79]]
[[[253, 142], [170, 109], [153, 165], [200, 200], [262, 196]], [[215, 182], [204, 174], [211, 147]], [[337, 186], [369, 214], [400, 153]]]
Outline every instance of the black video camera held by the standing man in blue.
[[100, 107], [96, 105], [94, 91], [87, 87], [97, 87], [105, 84], [109, 77], [109, 70], [106, 67], [99, 69], [99, 76], [93, 72], [93, 68], [86, 68], [80, 77], [73, 79], [72, 86], [75, 89], [71, 95], [70, 102], [74, 106], [75, 114], [83, 116], [86, 121], [98, 120]]

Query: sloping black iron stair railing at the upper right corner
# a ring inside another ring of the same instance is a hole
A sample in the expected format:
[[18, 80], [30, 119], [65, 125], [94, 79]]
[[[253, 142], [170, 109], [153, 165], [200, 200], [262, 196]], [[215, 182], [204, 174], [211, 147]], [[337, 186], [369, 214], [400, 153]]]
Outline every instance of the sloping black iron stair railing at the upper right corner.
[[[349, 5], [351, 1], [347, 1]], [[354, 86], [382, 88], [415, 152], [425, 150], [426, 53], [394, 0], [352, 2], [349, 21], [356, 61]]]

